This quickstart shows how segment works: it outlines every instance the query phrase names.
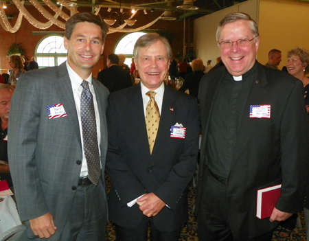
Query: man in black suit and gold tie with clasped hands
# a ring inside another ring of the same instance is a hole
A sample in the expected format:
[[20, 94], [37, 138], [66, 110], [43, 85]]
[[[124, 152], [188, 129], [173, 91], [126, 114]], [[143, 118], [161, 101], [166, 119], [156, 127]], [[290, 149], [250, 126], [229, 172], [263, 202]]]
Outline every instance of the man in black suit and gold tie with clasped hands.
[[140, 84], [108, 98], [109, 214], [118, 241], [147, 240], [148, 224], [152, 241], [176, 241], [196, 168], [197, 102], [164, 84], [172, 56], [165, 38], [141, 36], [133, 54]]

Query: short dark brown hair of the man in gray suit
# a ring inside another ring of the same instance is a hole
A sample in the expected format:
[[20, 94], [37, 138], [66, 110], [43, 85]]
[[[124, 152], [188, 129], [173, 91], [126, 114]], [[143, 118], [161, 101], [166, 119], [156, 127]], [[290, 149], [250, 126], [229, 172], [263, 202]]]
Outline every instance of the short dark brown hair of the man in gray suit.
[[71, 16], [71, 18], [65, 24], [65, 37], [70, 39], [76, 24], [82, 22], [89, 22], [98, 25], [102, 32], [102, 43], [105, 42], [106, 34], [108, 32], [108, 25], [102, 21], [100, 15], [95, 15], [91, 12], [79, 12]]

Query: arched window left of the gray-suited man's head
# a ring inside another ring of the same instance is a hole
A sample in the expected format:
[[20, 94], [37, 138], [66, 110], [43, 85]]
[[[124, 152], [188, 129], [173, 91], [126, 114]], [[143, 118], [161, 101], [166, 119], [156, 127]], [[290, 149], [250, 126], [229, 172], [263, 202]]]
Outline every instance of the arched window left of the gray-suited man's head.
[[63, 36], [52, 35], [41, 39], [34, 54], [40, 68], [58, 66], [67, 60]]

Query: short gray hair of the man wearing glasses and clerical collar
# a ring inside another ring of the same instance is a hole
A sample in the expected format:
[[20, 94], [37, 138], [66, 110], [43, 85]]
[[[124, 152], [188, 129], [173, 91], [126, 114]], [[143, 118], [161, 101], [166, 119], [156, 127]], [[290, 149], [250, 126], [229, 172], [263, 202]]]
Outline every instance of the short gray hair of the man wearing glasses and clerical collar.
[[[217, 33], [216, 33], [216, 41], [219, 41], [219, 37], [221, 34], [221, 28], [224, 27], [227, 23], [233, 23], [236, 22], [238, 20], [245, 20], [245, 21], [249, 21], [249, 26], [250, 26], [250, 30], [253, 34], [253, 36], [257, 37], [260, 36], [259, 34], [259, 29], [258, 29], [258, 25], [255, 23], [255, 21], [253, 19], [251, 19], [251, 16], [249, 16], [248, 14], [244, 14], [242, 12], [234, 12], [231, 14], [227, 14], [227, 16], [225, 16], [219, 23], [218, 28], [217, 28]], [[256, 43], [256, 38], [255, 38], [255, 43]]]

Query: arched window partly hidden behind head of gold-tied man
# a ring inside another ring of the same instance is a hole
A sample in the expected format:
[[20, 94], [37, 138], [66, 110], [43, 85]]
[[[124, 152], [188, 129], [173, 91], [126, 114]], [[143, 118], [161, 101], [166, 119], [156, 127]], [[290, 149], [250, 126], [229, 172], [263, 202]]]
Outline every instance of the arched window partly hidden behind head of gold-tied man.
[[140, 36], [143, 36], [144, 34], [146, 33], [135, 32], [132, 34], [127, 34], [117, 44], [117, 47], [115, 49], [115, 54], [124, 54], [126, 56], [126, 61], [124, 62], [126, 65], [130, 66], [131, 58], [133, 57], [133, 48], [134, 48], [135, 42]]

